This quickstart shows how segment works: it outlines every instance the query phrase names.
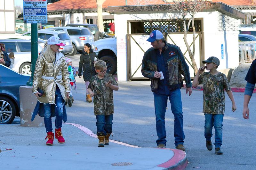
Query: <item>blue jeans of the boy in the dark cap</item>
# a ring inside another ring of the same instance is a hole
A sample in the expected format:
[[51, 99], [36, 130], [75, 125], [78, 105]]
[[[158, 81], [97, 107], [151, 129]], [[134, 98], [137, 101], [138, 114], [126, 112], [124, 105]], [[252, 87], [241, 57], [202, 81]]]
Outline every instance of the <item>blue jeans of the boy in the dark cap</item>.
[[215, 148], [220, 148], [222, 145], [222, 122], [223, 114], [204, 114], [204, 137], [207, 141], [211, 141], [212, 127], [215, 129]]

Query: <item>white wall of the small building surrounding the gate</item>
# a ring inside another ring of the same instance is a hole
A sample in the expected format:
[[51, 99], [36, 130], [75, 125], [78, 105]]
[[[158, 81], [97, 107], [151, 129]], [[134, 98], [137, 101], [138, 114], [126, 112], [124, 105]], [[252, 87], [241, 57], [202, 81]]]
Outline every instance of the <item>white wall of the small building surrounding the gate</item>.
[[[221, 63], [219, 69], [234, 68], [238, 66], [238, 19], [225, 16], [226, 15], [223, 12], [221, 13], [219, 11], [200, 12], [196, 15], [196, 18], [203, 18], [202, 44], [204, 54], [202, 55], [204, 55], [205, 58], [210, 56], [218, 57]], [[124, 53], [124, 50], [121, 49], [122, 44], [118, 44], [118, 42], [121, 42], [118, 40], [126, 39], [126, 35], [129, 33], [127, 29], [127, 20], [152, 20], [159, 18], [180, 18], [180, 15], [177, 13], [115, 14], [117, 72], [119, 81], [127, 81], [127, 52]], [[229, 22], [234, 25], [234, 28], [226, 26], [225, 23]], [[221, 49], [222, 44], [223, 49]], [[221, 54], [222, 50], [223, 57]]]

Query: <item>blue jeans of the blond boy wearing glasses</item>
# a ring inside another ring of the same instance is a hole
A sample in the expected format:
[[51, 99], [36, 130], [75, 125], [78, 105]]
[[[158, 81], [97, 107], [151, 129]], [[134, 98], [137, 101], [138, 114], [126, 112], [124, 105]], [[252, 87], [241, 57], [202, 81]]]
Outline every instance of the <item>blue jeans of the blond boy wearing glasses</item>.
[[111, 115], [95, 115], [97, 122], [97, 135], [104, 135], [112, 133], [113, 114]]

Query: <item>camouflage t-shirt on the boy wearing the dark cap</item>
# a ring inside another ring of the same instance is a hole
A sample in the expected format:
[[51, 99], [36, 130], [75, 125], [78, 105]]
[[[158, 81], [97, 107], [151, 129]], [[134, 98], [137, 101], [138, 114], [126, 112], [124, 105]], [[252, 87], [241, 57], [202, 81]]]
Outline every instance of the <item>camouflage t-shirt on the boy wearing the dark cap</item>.
[[225, 92], [230, 90], [228, 79], [225, 74], [216, 75], [204, 72], [199, 76], [198, 83], [204, 83], [204, 114], [224, 114]]

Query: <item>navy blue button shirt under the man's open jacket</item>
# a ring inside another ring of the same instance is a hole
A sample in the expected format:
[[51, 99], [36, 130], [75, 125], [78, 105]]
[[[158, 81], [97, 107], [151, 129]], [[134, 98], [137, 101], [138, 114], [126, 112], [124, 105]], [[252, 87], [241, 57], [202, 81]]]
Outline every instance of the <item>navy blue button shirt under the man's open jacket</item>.
[[157, 50], [157, 71], [162, 71], [164, 74], [164, 79], [160, 80], [158, 79], [158, 83], [157, 83], [157, 93], [158, 94], [166, 94], [169, 95], [170, 94], [170, 90], [168, 89], [168, 78], [169, 78], [169, 71], [168, 71], [168, 65], [167, 65], [167, 61], [165, 61], [164, 59], [164, 48], [160, 54], [160, 51]]

